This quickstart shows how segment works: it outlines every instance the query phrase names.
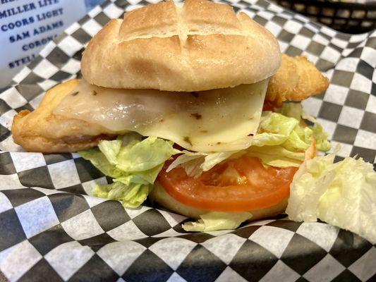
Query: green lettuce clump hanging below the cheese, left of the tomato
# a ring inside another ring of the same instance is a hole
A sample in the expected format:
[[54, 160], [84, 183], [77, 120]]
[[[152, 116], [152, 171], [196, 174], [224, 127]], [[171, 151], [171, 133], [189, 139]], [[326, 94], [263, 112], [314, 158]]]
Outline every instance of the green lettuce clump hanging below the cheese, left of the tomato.
[[164, 162], [177, 154], [173, 142], [157, 137], [142, 140], [130, 133], [117, 140], [102, 140], [97, 148], [78, 152], [114, 183], [97, 185], [94, 195], [120, 200], [124, 207], [139, 207], [147, 198]]

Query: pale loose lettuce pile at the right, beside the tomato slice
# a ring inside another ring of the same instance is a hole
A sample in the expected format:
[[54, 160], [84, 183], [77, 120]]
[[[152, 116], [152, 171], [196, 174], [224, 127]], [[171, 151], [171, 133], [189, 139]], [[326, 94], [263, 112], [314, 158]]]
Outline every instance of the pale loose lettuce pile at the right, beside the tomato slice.
[[376, 243], [376, 173], [363, 159], [334, 154], [307, 160], [296, 172], [286, 214], [293, 221], [320, 219]]

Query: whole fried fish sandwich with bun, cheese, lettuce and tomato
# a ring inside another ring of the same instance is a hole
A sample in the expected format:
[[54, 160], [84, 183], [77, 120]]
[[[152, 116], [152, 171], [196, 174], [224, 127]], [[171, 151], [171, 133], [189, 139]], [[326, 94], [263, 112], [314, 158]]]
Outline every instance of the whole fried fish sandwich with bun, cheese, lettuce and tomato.
[[129, 11], [91, 39], [81, 72], [20, 111], [13, 140], [30, 152], [78, 152], [112, 178], [94, 195], [125, 207], [149, 196], [201, 223], [219, 219], [212, 230], [234, 228], [284, 212], [299, 166], [330, 148], [300, 103], [327, 78], [225, 4]]

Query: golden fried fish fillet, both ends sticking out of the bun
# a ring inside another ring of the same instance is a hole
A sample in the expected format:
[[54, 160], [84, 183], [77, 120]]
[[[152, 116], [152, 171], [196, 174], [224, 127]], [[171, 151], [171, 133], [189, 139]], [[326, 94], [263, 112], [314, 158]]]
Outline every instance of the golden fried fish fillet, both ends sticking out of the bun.
[[[35, 111], [20, 111], [13, 119], [13, 140], [29, 152], [76, 152], [95, 147], [99, 140], [117, 133], [75, 118], [53, 113], [56, 106], [78, 85], [69, 80], [51, 88]], [[282, 56], [279, 71], [269, 81], [266, 101], [279, 105], [301, 101], [327, 89], [329, 81], [303, 56]]]

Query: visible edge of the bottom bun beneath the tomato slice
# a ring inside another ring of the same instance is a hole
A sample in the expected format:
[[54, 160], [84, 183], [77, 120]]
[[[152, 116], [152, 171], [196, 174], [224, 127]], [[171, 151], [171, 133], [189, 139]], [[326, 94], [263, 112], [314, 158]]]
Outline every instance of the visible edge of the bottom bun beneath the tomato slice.
[[[174, 197], [171, 197], [169, 193], [166, 192], [166, 190], [164, 190], [162, 184], [158, 181], [154, 183], [154, 188], [152, 189], [152, 192], [150, 192], [149, 198], [150, 200], [152, 200], [152, 202], [157, 202], [159, 205], [165, 207], [166, 209], [169, 209], [172, 212], [182, 214], [183, 216], [187, 216], [192, 219], [199, 219], [200, 215], [207, 214], [208, 212], [219, 212], [210, 211], [207, 209], [198, 209], [178, 202], [174, 199]], [[278, 214], [281, 214], [286, 209], [287, 199], [288, 197], [284, 198], [284, 200], [282, 200], [278, 204], [274, 204], [274, 206], [272, 207], [248, 211], [252, 214], [250, 221], [265, 219], [270, 216], [277, 216]]]

